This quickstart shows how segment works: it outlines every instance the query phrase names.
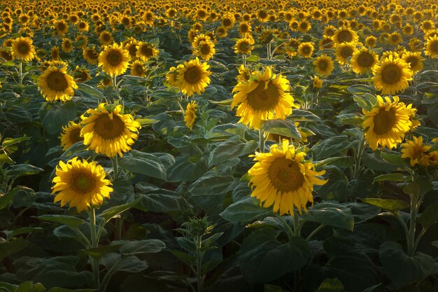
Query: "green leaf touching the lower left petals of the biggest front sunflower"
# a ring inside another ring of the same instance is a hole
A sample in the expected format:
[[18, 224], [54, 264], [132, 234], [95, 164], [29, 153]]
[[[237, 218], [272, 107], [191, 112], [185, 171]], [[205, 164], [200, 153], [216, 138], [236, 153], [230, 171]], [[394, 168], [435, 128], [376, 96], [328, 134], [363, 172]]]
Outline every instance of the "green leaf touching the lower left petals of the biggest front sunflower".
[[225, 220], [232, 222], [252, 222], [257, 219], [272, 215], [271, 209], [260, 207], [260, 201], [255, 197], [245, 197], [230, 204], [220, 213]]

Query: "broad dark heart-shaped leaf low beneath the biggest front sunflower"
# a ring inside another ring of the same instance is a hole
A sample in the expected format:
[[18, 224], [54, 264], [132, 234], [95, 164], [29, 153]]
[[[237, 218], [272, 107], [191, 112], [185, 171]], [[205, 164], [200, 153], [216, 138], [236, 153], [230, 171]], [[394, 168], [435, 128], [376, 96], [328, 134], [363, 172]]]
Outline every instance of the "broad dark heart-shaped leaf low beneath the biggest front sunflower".
[[245, 279], [253, 283], [268, 283], [299, 270], [309, 256], [309, 245], [301, 237], [292, 237], [290, 242], [283, 244], [276, 240], [274, 229], [263, 228], [243, 240], [238, 261]]

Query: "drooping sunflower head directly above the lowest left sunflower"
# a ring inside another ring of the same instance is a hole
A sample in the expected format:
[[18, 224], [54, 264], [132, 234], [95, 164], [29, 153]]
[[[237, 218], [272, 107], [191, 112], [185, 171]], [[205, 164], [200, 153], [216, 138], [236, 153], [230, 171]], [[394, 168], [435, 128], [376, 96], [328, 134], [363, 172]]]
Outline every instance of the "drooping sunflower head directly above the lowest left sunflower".
[[89, 149], [108, 157], [123, 155], [131, 150], [130, 145], [137, 139], [139, 122], [130, 114], [122, 114], [122, 105], [110, 106], [99, 104], [97, 109], [88, 109], [81, 116], [84, 125], [80, 135]]

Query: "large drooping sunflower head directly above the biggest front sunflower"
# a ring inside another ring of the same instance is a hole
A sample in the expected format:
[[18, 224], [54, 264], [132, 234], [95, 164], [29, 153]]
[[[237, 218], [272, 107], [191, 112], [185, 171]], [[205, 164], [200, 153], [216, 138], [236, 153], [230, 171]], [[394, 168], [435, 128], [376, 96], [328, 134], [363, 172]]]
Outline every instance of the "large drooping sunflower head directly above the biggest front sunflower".
[[231, 108], [238, 106], [236, 116], [241, 117], [239, 123], [259, 129], [263, 120], [284, 120], [292, 113], [292, 108], [299, 107], [288, 91], [288, 79], [272, 74], [271, 68], [266, 67], [264, 73], [255, 72], [248, 82], [234, 87], [236, 94]]

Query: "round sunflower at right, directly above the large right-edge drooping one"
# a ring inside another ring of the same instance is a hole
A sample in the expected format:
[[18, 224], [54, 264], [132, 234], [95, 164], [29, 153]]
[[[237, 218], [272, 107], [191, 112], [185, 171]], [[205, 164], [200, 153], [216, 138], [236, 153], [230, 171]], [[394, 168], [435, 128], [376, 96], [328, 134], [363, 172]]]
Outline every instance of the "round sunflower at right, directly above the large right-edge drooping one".
[[374, 87], [376, 90], [382, 90], [383, 95], [395, 95], [397, 92], [404, 91], [409, 86], [408, 81], [412, 79], [409, 64], [393, 58], [392, 55], [377, 64], [373, 74]]

